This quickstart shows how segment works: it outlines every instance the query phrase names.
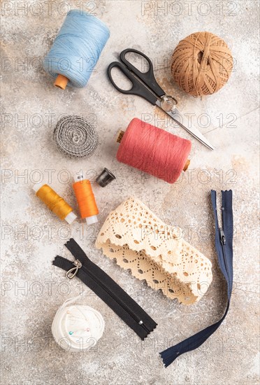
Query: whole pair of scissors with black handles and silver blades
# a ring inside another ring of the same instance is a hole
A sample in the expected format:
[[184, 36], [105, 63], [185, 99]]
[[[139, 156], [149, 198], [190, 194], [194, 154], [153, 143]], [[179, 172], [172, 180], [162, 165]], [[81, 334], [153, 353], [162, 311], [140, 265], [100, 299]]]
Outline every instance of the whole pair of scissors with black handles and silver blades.
[[[136, 53], [144, 57], [148, 64], [149, 69], [147, 72], [139, 71], [133, 64], [131, 64], [127, 59], [127, 53]], [[152, 61], [147, 57], [143, 52], [134, 50], [133, 48], [127, 48], [120, 53], [121, 62], [113, 62], [108, 66], [108, 78], [117, 91], [122, 92], [123, 94], [134, 94], [140, 97], [143, 97], [148, 102], [154, 106], [160, 107], [165, 111], [168, 116], [171, 116], [175, 122], [177, 122], [181, 127], [183, 127], [189, 134], [192, 134], [198, 141], [200, 141], [204, 146], [214, 150], [214, 147], [210, 142], [205, 139], [203, 134], [194, 125], [189, 123], [189, 120], [182, 115], [182, 113], [177, 109], [176, 104], [178, 101], [171, 96], [166, 95], [166, 92], [161, 89], [156, 79], [154, 78], [154, 70], [152, 66]], [[122, 90], [118, 85], [115, 84], [115, 81], [112, 77], [112, 69], [117, 67], [124, 73], [125, 76], [131, 81], [132, 87], [130, 90]]]

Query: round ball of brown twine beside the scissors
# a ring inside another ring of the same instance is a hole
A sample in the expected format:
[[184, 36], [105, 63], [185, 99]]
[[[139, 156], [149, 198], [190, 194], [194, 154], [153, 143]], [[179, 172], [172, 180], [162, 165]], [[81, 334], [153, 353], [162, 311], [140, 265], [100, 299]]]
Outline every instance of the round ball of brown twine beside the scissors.
[[192, 96], [214, 94], [226, 84], [233, 57], [222, 38], [196, 32], [178, 43], [173, 52], [171, 73], [176, 83]]

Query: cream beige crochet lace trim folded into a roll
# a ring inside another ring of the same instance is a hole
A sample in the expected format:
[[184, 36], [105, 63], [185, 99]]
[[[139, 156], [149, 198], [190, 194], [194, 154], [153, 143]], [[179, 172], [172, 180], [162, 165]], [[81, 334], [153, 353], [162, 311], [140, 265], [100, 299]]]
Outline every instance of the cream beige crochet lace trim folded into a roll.
[[183, 304], [198, 302], [212, 281], [212, 264], [188, 242], [178, 238], [145, 204], [129, 198], [111, 211], [96, 247], [136, 278]]

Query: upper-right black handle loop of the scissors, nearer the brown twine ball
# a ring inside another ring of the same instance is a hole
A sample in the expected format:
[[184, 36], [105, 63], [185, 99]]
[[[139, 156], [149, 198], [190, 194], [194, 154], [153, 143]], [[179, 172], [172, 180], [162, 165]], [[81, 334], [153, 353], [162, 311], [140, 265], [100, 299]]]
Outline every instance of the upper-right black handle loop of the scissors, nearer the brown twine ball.
[[[133, 66], [133, 64], [131, 64], [127, 59], [126, 59], [126, 55], [127, 53], [136, 53], [137, 55], [140, 55], [142, 57], [145, 58], [145, 60], [147, 60], [147, 62], [149, 63], [149, 69], [147, 72], [141, 72], [139, 71], [135, 66]], [[161, 87], [159, 86], [159, 84], [157, 83], [156, 79], [154, 78], [154, 68], [152, 66], [152, 61], [151, 59], [149, 59], [149, 57], [147, 57], [143, 52], [140, 52], [138, 50], [134, 50], [133, 48], [127, 48], [126, 50], [123, 50], [121, 53], [120, 53], [120, 60], [133, 72], [135, 73], [136, 76], [138, 76], [138, 78], [140, 78], [140, 80], [143, 81], [143, 83], [145, 83], [145, 85], [147, 85], [147, 87], [150, 88], [150, 90], [152, 90], [152, 92], [154, 92], [154, 94], [156, 94], [158, 97], [162, 97], [163, 95], [165, 95], [165, 92], [164, 90], [161, 89]]]

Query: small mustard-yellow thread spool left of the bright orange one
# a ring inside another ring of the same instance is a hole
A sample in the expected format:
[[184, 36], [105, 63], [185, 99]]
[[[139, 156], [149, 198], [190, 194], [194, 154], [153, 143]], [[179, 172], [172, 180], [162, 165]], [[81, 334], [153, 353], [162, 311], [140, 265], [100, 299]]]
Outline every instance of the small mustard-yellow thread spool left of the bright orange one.
[[55, 190], [45, 183], [38, 183], [33, 187], [36, 196], [60, 219], [65, 220], [69, 225], [75, 221], [77, 216], [73, 213], [70, 205], [60, 197]]

